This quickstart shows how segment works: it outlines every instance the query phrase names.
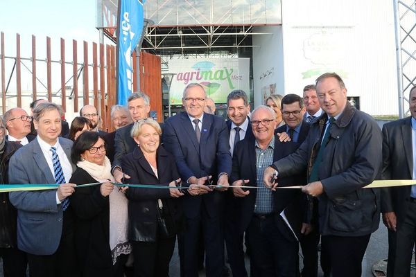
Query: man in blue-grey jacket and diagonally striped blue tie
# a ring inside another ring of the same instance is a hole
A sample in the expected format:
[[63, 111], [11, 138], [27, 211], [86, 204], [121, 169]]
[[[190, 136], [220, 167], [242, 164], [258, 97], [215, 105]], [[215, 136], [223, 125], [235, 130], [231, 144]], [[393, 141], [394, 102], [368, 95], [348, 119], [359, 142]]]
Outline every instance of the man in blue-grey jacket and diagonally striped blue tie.
[[10, 159], [10, 184], [60, 184], [55, 190], [10, 193], [17, 208], [17, 246], [28, 253], [31, 276], [78, 276], [73, 249], [69, 197], [74, 184], [66, 184], [75, 166], [72, 142], [58, 138], [62, 109], [51, 102], [33, 111], [37, 138]]

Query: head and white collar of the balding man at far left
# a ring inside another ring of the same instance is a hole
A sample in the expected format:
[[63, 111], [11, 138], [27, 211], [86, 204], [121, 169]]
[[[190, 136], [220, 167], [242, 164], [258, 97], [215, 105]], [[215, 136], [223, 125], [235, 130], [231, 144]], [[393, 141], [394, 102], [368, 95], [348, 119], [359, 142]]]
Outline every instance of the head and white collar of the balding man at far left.
[[16, 141], [21, 145], [26, 145], [35, 139], [35, 136], [29, 135], [31, 132], [31, 116], [21, 108], [9, 109], [4, 113], [8, 136], [6, 140]]

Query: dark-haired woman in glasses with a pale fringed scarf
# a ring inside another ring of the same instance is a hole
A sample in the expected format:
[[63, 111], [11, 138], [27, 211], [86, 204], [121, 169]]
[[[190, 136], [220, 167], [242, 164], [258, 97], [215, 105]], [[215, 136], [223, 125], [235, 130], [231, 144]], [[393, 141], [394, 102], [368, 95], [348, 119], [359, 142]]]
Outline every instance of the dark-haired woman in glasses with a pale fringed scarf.
[[103, 184], [76, 188], [71, 206], [76, 215], [75, 242], [83, 276], [123, 276], [130, 253], [127, 240], [128, 202], [114, 188], [105, 142], [97, 132], [84, 132], [73, 143], [71, 160], [77, 169], [70, 183]]

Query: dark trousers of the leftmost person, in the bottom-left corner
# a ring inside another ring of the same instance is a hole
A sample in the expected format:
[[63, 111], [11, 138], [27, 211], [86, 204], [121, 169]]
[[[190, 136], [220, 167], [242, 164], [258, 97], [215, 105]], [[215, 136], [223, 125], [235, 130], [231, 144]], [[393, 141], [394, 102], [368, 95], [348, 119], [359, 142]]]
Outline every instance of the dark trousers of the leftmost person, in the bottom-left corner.
[[17, 248], [0, 248], [4, 277], [26, 277], [26, 253]]

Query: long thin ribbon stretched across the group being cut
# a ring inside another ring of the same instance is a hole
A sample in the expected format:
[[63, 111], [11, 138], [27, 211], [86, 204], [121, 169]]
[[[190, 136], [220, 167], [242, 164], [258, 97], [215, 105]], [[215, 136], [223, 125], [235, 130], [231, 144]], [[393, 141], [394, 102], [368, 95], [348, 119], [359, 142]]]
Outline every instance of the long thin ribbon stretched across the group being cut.
[[[78, 185], [75, 188], [82, 188], [85, 186], [97, 186], [102, 184], [98, 183], [90, 183], [90, 184], [83, 184]], [[114, 186], [126, 186], [131, 188], [160, 188], [160, 189], [170, 189], [170, 188], [177, 188], [179, 190], [187, 190], [188, 186], [159, 186], [159, 185], [143, 185], [143, 184], [119, 184], [119, 183], [112, 183]], [[387, 188], [387, 187], [394, 187], [394, 186], [413, 186], [416, 185], [416, 180], [375, 180], [371, 184], [364, 186], [363, 188]], [[24, 190], [53, 190], [58, 188], [59, 185], [56, 184], [4, 184], [0, 186], [0, 193], [8, 193], [11, 191], [24, 191]], [[216, 185], [209, 185], [211, 188], [223, 188], [223, 186], [216, 186]], [[227, 188], [265, 188], [265, 187], [257, 187], [257, 186], [228, 186]], [[292, 188], [292, 189], [300, 189], [302, 186], [277, 186], [276, 188]]]

